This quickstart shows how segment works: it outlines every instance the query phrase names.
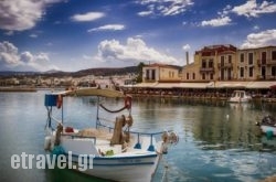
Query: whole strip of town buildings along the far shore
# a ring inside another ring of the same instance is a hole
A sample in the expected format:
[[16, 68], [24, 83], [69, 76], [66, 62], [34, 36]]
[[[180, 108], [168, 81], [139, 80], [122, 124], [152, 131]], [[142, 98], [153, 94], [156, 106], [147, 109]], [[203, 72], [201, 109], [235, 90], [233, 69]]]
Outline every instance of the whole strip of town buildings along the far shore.
[[[234, 89], [254, 96], [275, 97], [276, 46], [238, 50], [231, 44], [204, 46], [194, 53], [193, 62], [185, 53], [185, 65], [142, 64], [140, 73], [82, 77], [13, 76], [1, 78], [1, 87], [32, 88], [105, 87], [124, 89], [132, 95], [202, 96], [221, 94], [229, 97]], [[138, 81], [138, 77], [141, 81]], [[219, 93], [219, 94], [217, 94]]]

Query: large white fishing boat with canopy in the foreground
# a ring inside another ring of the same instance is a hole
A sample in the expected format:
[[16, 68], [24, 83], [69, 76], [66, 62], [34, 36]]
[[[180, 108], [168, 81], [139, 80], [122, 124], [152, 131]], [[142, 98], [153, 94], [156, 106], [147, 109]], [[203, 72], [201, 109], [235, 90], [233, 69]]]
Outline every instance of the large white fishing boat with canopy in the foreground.
[[[63, 113], [63, 100], [68, 96], [97, 97], [96, 128], [68, 127], [63, 120], [63, 114], [60, 120], [53, 116], [53, 109], [60, 108]], [[110, 110], [100, 103], [103, 97], [121, 98], [123, 107]], [[132, 99], [131, 96], [120, 92], [86, 88], [51, 93], [45, 95], [44, 103], [47, 109], [45, 150], [52, 156], [65, 156], [68, 167], [96, 178], [150, 182], [161, 156], [167, 153], [168, 147], [177, 143], [179, 139], [173, 131], [132, 131], [130, 129], [134, 124]], [[113, 121], [114, 127], [109, 127], [104, 124], [104, 118], [100, 118], [99, 109], [113, 114], [124, 111], [127, 114], [117, 116]], [[157, 138], [160, 138], [160, 141]], [[79, 159], [83, 163], [79, 163]], [[79, 168], [83, 164], [88, 168]]]

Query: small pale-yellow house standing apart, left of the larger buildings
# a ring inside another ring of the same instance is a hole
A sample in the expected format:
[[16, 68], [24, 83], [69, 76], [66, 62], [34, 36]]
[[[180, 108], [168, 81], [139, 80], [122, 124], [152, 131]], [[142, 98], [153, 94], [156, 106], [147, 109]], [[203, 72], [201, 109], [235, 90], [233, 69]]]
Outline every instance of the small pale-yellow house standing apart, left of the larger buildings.
[[180, 69], [177, 66], [150, 64], [142, 67], [144, 83], [171, 83], [180, 81]]

